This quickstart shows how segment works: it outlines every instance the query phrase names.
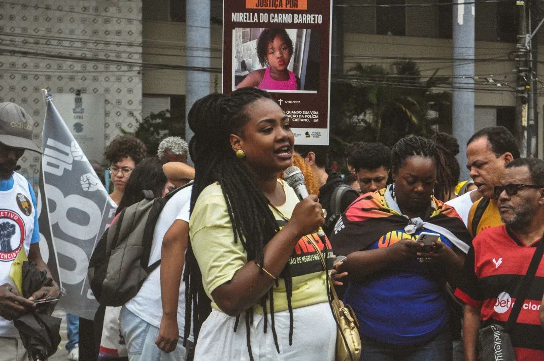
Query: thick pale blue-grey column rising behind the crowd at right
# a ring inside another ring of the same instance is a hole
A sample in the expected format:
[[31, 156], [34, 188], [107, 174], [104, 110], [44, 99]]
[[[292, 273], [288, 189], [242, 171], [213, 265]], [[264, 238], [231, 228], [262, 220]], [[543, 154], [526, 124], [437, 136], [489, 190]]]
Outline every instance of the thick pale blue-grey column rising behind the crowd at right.
[[[459, 164], [466, 164], [467, 141], [474, 134], [474, 4], [456, 0], [453, 6], [452, 129], [459, 141]], [[461, 179], [469, 179], [461, 167]]]

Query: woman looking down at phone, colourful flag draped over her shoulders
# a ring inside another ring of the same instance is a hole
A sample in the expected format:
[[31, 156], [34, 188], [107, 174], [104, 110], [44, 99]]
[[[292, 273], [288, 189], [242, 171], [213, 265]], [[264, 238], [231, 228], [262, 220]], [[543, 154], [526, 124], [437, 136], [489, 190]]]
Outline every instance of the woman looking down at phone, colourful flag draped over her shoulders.
[[[436, 145], [420, 136], [391, 151], [393, 184], [354, 201], [331, 235], [347, 256], [344, 301], [360, 323], [361, 360], [451, 360], [446, 283], [455, 284], [471, 236], [456, 211], [433, 196]], [[422, 232], [437, 234], [430, 245]]]

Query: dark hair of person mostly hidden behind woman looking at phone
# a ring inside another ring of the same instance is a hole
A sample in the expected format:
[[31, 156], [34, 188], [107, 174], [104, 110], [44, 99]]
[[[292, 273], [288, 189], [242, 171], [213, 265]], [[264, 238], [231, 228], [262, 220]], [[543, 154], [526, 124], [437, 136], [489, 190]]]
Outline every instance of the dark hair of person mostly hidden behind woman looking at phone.
[[431, 137], [438, 150], [435, 197], [446, 202], [454, 195], [455, 185], [459, 183], [461, 169], [455, 155], [459, 154], [459, 142], [453, 135], [436, 133]]

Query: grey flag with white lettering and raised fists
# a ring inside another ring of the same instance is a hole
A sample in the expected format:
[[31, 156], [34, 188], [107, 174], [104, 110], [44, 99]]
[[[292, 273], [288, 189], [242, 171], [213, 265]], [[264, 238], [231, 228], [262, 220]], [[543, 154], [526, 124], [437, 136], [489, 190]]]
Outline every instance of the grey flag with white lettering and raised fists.
[[47, 200], [46, 214], [65, 291], [59, 306], [71, 314], [93, 319], [98, 302], [89, 287], [87, 267], [96, 242], [113, 219], [116, 206], [48, 94], [46, 103], [41, 164], [45, 195], [42, 199]]

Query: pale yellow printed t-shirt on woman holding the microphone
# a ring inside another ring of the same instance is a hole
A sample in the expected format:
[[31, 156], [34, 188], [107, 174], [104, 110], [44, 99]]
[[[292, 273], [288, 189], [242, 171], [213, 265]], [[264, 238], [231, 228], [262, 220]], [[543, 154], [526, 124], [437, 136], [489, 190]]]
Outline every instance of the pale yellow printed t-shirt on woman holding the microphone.
[[[290, 218], [293, 208], [299, 201], [290, 186], [283, 184], [283, 190], [287, 200], [277, 209]], [[286, 222], [282, 216], [274, 209], [273, 213], [280, 227], [285, 225]], [[202, 273], [202, 284], [206, 294], [212, 300], [212, 307], [219, 310], [217, 303], [213, 301], [212, 291], [230, 281], [234, 273], [248, 263], [248, 255], [240, 240], [234, 243], [232, 223], [218, 183], [208, 185], [199, 195], [189, 221], [189, 234], [191, 247]], [[308, 236], [312, 236], [316, 244], [323, 247], [317, 235]], [[330, 251], [331, 246], [328, 240], [327, 249], [329, 260], [332, 262], [332, 251]], [[323, 265], [310, 241], [304, 237], [299, 240], [289, 258], [288, 265], [293, 280], [291, 296], [293, 308], [328, 301]], [[287, 310], [283, 279], [279, 279], [279, 286], [273, 286], [273, 294], [274, 311]], [[267, 309], [270, 310], [270, 304]], [[262, 313], [262, 308], [256, 304], [254, 312]]]

